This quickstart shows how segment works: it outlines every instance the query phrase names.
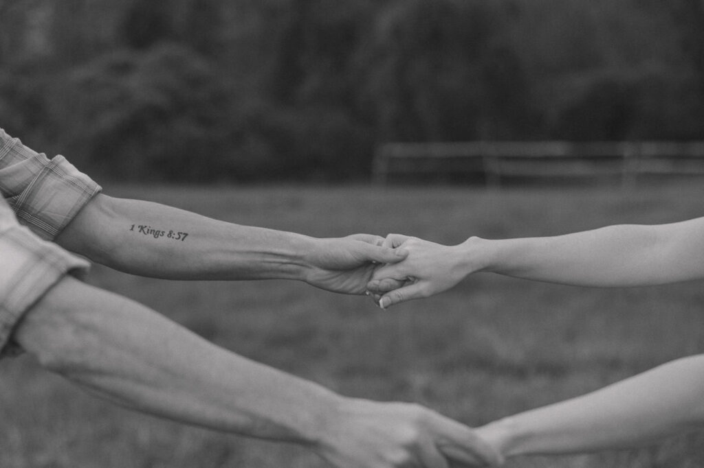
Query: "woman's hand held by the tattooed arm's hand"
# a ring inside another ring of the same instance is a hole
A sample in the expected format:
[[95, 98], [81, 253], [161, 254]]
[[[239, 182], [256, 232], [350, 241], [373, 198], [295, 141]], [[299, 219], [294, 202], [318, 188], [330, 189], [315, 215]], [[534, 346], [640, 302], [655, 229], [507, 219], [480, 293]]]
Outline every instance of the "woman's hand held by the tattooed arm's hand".
[[407, 256], [396, 264], [379, 266], [367, 284], [381, 308], [448, 290], [473, 271], [462, 244], [440, 245], [389, 234], [382, 245], [401, 249]]

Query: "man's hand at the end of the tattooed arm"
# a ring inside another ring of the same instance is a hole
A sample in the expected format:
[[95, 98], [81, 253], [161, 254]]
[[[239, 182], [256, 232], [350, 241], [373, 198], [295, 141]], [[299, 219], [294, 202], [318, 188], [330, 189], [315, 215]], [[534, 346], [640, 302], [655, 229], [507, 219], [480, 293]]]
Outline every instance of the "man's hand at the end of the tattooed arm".
[[310, 266], [305, 280], [327, 291], [364, 294], [378, 264], [395, 264], [406, 258], [403, 249], [383, 243], [384, 238], [371, 234], [318, 239], [304, 259]]

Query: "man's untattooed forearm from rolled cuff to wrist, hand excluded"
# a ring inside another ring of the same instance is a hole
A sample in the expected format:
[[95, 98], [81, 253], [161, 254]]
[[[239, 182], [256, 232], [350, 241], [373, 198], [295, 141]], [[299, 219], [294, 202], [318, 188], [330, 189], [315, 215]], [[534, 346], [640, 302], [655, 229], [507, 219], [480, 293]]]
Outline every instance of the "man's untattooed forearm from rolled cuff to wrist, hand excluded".
[[69, 278], [27, 313], [15, 339], [46, 368], [84, 388], [220, 431], [313, 444], [341, 400]]

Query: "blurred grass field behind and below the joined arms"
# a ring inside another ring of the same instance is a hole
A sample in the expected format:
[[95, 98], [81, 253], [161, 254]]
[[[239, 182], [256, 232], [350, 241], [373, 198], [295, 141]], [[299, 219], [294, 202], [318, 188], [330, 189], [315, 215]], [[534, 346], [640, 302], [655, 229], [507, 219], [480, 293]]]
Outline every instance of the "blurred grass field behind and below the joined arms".
[[[552, 235], [704, 215], [704, 183], [610, 188], [107, 187], [237, 223], [315, 236]], [[172, 282], [94, 266], [227, 349], [350, 396], [416, 401], [470, 425], [583, 394], [704, 351], [704, 283], [590, 289], [477, 274], [382, 312], [300, 282]], [[0, 363], [0, 467], [323, 467], [295, 446], [184, 427], [94, 398], [27, 356]], [[704, 434], [640, 450], [524, 457], [509, 467], [702, 467]]]

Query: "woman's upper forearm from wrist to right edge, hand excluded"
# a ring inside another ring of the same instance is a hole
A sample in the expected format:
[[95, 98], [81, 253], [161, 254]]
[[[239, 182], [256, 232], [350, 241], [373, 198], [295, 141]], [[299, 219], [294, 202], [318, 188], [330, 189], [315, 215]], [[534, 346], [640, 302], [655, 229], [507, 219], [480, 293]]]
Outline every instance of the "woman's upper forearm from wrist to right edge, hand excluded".
[[704, 222], [620, 225], [545, 238], [463, 245], [482, 271], [584, 286], [655, 285], [704, 274]]

